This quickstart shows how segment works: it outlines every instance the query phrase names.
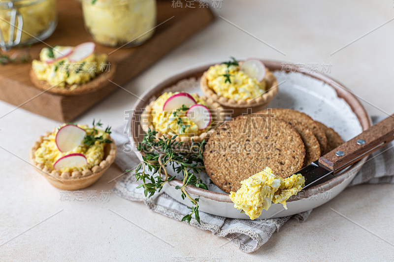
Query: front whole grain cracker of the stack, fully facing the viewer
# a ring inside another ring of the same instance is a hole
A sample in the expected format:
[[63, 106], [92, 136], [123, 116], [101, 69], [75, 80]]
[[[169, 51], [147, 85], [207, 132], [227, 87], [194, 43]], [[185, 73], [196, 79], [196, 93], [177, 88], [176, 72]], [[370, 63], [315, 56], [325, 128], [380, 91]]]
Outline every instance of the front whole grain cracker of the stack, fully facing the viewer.
[[288, 123], [271, 117], [244, 115], [218, 127], [205, 145], [204, 165], [212, 182], [230, 193], [240, 181], [266, 166], [288, 177], [305, 158], [304, 143]]

